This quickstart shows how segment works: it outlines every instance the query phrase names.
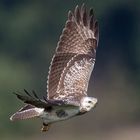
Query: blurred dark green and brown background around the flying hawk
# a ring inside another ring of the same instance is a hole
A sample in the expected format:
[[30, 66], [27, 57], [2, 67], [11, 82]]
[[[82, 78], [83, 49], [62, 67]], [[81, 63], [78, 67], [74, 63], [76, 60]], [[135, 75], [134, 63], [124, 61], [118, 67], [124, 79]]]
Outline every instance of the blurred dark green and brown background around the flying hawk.
[[[95, 110], [54, 124], [10, 122], [23, 103], [12, 92], [46, 92], [48, 68], [67, 13], [78, 4], [93, 7], [100, 25], [97, 61], [88, 93]], [[140, 1], [1, 0], [0, 139], [140, 140]]]

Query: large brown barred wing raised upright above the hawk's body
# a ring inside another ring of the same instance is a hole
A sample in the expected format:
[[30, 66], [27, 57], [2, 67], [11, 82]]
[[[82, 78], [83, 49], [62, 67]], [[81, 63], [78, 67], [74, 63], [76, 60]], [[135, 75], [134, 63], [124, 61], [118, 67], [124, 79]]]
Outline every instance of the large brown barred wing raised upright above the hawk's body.
[[48, 99], [80, 100], [86, 96], [98, 38], [93, 9], [88, 12], [83, 4], [76, 6], [74, 13], [69, 11], [49, 70]]

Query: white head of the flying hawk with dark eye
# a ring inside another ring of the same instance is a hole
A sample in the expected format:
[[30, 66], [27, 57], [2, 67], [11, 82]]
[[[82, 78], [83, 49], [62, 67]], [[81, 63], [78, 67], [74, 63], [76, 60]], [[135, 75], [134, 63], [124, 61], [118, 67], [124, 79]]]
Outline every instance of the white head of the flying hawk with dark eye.
[[95, 107], [97, 103], [97, 99], [94, 97], [83, 97], [81, 99], [81, 112], [90, 111], [93, 107]]

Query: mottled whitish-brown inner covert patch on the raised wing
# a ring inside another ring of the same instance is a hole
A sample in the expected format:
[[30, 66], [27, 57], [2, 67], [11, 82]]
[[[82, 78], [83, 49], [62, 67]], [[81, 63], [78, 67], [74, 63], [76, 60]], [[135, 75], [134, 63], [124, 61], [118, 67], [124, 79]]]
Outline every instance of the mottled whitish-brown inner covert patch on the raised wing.
[[61, 75], [57, 94], [53, 99], [66, 100], [87, 95], [88, 82], [95, 59], [88, 55], [77, 55], [69, 62]]

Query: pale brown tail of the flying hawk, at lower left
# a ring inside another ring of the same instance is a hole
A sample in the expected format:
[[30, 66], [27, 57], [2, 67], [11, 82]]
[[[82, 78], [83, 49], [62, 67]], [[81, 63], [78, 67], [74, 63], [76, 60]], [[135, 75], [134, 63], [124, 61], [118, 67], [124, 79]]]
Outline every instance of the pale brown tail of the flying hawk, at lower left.
[[17, 121], [38, 117], [43, 113], [43, 111], [44, 111], [43, 108], [37, 108], [30, 105], [26, 105], [25, 107], [17, 111], [15, 114], [13, 114], [10, 117], [10, 120]]

